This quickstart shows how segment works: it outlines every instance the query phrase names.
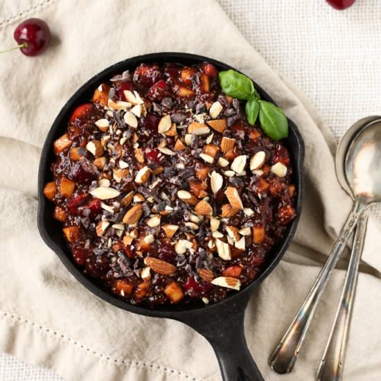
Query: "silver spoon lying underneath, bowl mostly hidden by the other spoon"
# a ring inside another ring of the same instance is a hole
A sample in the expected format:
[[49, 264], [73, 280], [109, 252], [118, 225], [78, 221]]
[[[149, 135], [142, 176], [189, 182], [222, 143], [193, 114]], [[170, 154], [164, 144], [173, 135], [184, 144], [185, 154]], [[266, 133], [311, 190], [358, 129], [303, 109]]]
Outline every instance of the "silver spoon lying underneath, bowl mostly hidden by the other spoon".
[[[369, 116], [363, 118], [349, 128], [337, 147], [336, 152], [336, 174], [339, 183], [347, 193], [352, 197], [351, 188], [346, 181], [345, 159], [349, 145], [355, 139], [356, 134], [362, 128], [373, 121], [381, 120], [381, 116]], [[344, 371], [344, 357], [346, 352], [346, 342], [348, 339], [349, 326], [351, 324], [351, 315], [355, 299], [355, 289], [357, 284], [357, 274], [360, 264], [364, 239], [366, 235], [366, 223], [368, 217], [366, 211], [362, 213], [355, 231], [351, 258], [349, 260], [348, 270], [344, 281], [342, 295], [335, 314], [335, 321], [330, 330], [330, 336], [324, 355], [321, 359], [317, 371], [317, 381], [339, 381], [342, 379]]]

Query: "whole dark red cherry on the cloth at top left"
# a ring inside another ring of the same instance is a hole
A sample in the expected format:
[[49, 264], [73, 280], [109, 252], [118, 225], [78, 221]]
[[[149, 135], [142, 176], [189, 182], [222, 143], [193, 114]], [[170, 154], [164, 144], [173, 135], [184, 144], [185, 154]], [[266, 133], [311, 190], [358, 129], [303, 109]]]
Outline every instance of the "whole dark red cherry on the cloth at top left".
[[16, 27], [13, 38], [19, 44], [21, 53], [32, 57], [46, 50], [51, 41], [51, 31], [45, 21], [27, 19]]

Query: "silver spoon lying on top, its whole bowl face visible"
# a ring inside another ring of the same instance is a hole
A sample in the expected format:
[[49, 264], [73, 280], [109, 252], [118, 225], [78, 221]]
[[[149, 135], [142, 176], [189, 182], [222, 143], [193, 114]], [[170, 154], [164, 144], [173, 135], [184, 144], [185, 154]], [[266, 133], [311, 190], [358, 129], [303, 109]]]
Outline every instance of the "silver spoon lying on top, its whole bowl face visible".
[[361, 213], [370, 204], [381, 202], [381, 121], [365, 125], [355, 136], [346, 155], [345, 173], [355, 204], [312, 289], [269, 358], [270, 366], [277, 373], [292, 371], [321, 294], [344, 250], [346, 241], [351, 236]]

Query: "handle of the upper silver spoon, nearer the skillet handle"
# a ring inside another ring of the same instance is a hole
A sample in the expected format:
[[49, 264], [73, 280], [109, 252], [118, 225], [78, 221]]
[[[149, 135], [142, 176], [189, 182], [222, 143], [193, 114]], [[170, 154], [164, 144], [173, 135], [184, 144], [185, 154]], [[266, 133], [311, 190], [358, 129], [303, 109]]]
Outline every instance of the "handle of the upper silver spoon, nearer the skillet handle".
[[276, 373], [287, 373], [292, 371], [296, 358], [299, 355], [301, 344], [303, 344], [305, 334], [308, 331], [314, 312], [319, 304], [321, 294], [328, 283], [337, 260], [339, 260], [339, 257], [344, 250], [346, 241], [349, 236], [351, 236], [351, 233], [357, 224], [357, 220], [365, 208], [365, 200], [363, 200], [362, 197], [357, 197], [353, 209], [348, 215], [348, 219], [346, 220], [335, 245], [330, 251], [325, 265], [319, 272], [314, 285], [301, 305], [296, 317], [294, 317], [292, 324], [287, 329], [281, 342], [269, 358], [269, 364]]

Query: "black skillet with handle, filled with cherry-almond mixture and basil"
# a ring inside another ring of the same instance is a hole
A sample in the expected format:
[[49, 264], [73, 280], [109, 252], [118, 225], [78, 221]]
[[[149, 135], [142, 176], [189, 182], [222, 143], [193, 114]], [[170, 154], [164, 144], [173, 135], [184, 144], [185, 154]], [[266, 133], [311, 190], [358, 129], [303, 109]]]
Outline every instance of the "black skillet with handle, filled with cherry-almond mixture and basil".
[[39, 230], [89, 290], [193, 326], [226, 380], [260, 379], [243, 314], [296, 229], [302, 162], [296, 127], [249, 78], [196, 55], [134, 57], [53, 123]]

